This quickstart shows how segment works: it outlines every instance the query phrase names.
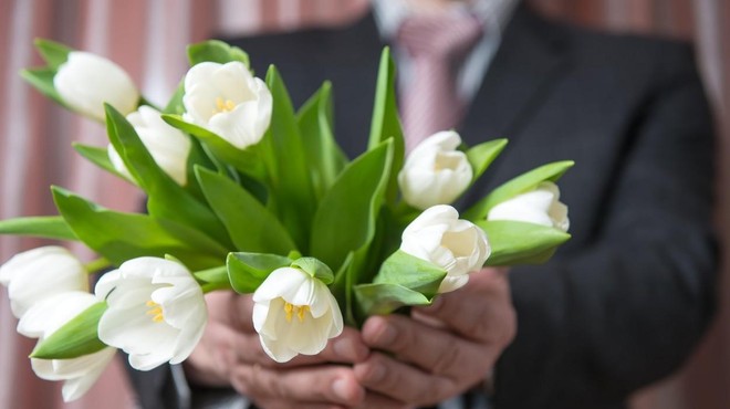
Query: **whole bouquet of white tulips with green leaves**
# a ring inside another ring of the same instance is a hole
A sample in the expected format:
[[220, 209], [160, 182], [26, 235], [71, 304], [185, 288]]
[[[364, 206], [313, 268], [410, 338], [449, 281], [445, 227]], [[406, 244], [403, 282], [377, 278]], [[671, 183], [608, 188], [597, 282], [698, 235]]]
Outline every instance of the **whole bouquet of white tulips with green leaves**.
[[[571, 161], [528, 171], [460, 216], [450, 206], [504, 148], [466, 147], [452, 130], [406, 156], [388, 50], [380, 61], [367, 151], [333, 136], [331, 85], [295, 111], [275, 67], [219, 41], [188, 49], [190, 70], [165, 107], [97, 55], [38, 41], [33, 86], [104, 122], [108, 146], [74, 145], [138, 186], [146, 212], [103, 208], [53, 187], [58, 216], [0, 221], [0, 233], [80, 241], [17, 254], [0, 268], [18, 332], [39, 339], [35, 373], [86, 391], [116, 349], [148, 370], [186, 359], [200, 339], [204, 294], [253, 294], [253, 325], [277, 361], [320, 353], [343, 325], [428, 305], [484, 265], [546, 261], [566, 241], [555, 181]], [[355, 136], [348, 136], [355, 137]], [[105, 271], [93, 293], [88, 274]]]

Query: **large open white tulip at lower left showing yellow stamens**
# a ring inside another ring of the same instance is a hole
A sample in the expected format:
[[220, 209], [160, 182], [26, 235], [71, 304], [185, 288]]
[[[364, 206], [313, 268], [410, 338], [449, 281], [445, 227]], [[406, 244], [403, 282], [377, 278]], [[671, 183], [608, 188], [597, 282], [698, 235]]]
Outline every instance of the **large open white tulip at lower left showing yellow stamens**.
[[95, 291], [108, 304], [98, 322], [98, 338], [129, 354], [135, 369], [179, 364], [202, 336], [208, 319], [202, 291], [177, 262], [126, 261], [104, 274]]

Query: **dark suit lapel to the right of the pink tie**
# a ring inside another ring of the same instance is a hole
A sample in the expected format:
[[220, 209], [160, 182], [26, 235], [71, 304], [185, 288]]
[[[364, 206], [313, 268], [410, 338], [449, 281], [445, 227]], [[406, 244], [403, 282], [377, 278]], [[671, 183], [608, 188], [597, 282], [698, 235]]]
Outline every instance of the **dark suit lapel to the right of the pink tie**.
[[518, 7], [461, 127], [465, 141], [519, 134], [569, 62], [564, 35], [524, 6]]

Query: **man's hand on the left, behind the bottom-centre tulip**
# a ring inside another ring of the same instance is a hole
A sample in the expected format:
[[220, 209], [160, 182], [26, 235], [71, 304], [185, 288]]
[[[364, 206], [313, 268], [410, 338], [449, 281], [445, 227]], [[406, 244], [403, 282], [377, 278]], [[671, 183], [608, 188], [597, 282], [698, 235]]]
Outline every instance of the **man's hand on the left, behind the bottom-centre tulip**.
[[345, 327], [317, 356], [278, 364], [262, 349], [253, 329], [250, 296], [232, 292], [206, 295], [208, 325], [185, 363], [188, 379], [204, 386], [231, 386], [261, 408], [337, 408], [362, 402], [365, 390], [351, 366], [368, 348], [359, 333]]

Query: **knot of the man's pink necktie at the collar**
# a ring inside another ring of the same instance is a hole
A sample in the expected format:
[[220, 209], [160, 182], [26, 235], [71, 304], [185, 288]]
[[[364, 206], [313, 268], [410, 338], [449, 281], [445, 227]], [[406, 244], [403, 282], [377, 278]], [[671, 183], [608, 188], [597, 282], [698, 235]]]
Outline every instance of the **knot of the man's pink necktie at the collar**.
[[400, 43], [413, 59], [465, 57], [482, 34], [473, 15], [419, 15], [406, 19], [398, 29]]

